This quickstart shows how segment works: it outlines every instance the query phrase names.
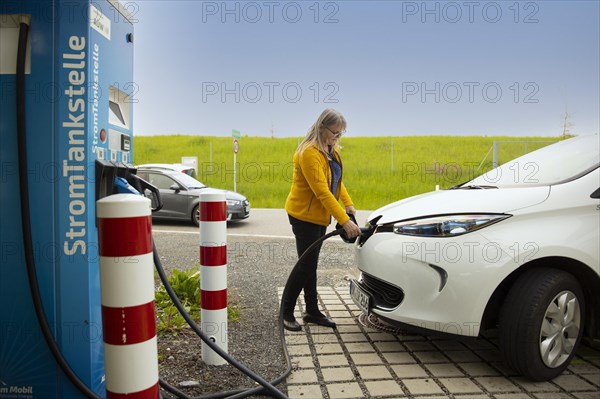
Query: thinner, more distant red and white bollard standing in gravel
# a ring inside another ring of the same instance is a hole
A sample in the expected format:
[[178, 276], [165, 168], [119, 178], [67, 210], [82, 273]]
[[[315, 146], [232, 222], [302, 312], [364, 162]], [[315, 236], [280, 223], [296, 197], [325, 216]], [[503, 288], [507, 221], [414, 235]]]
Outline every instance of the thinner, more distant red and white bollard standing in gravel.
[[[227, 352], [227, 203], [225, 194], [200, 194], [201, 328]], [[202, 360], [210, 365], [226, 361], [202, 342]]]

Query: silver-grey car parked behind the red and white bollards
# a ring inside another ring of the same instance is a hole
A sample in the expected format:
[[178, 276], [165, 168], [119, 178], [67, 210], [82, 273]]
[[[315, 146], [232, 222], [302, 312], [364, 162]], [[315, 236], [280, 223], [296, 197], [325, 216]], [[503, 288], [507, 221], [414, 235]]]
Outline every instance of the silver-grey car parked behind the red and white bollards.
[[[153, 212], [158, 219], [190, 220], [198, 225], [200, 193], [208, 186], [193, 177], [172, 170], [138, 169], [137, 175], [160, 191], [163, 206]], [[211, 188], [211, 190], [214, 190]], [[227, 220], [243, 220], [250, 216], [250, 201], [241, 194], [222, 190], [227, 201]]]

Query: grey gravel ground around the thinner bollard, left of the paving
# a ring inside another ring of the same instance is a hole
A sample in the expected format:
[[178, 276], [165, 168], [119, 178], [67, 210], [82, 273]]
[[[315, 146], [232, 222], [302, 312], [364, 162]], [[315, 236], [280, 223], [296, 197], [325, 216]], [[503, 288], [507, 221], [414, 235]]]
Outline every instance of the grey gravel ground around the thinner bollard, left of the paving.
[[[198, 266], [197, 235], [156, 233], [154, 239], [168, 275], [173, 268]], [[324, 243], [319, 285], [345, 285], [344, 276], [357, 274], [352, 249], [337, 238]], [[269, 381], [286, 368], [277, 326], [277, 287], [285, 285], [296, 260], [293, 239], [228, 238], [228, 303], [240, 314], [239, 322], [228, 324], [229, 354]], [[189, 329], [177, 336], [159, 337], [158, 342], [159, 355], [164, 359], [161, 378], [190, 396], [258, 386], [229, 364], [204, 364], [200, 339]], [[199, 384], [182, 386], [189, 381]], [[285, 393], [285, 382], [278, 387]]]

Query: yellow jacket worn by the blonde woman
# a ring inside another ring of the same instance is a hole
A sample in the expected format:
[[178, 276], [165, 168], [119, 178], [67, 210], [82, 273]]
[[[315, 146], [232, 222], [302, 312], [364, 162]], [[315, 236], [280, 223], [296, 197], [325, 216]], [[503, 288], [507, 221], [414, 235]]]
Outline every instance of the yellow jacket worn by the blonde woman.
[[[334, 155], [341, 165], [340, 154], [334, 151]], [[302, 155], [296, 152], [292, 189], [285, 201], [285, 210], [296, 219], [321, 226], [328, 226], [332, 215], [338, 223], [344, 224], [349, 217], [338, 201], [350, 206], [352, 199], [341, 178], [336, 197], [330, 186], [331, 170], [327, 156], [316, 146], [306, 148]]]

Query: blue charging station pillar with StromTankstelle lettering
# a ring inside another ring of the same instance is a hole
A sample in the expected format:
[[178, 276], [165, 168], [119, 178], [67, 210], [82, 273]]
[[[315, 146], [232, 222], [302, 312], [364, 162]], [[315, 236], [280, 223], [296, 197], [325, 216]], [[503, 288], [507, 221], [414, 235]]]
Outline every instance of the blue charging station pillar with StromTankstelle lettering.
[[[21, 21], [30, 28], [28, 165], [19, 170]], [[0, 41], [0, 399], [83, 397], [57, 366], [35, 316], [20, 217], [22, 173], [29, 179], [44, 313], [75, 374], [105, 397], [95, 165], [132, 161], [133, 22], [117, 1], [3, 0]]]

